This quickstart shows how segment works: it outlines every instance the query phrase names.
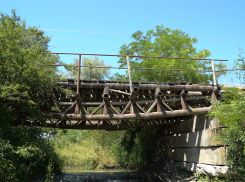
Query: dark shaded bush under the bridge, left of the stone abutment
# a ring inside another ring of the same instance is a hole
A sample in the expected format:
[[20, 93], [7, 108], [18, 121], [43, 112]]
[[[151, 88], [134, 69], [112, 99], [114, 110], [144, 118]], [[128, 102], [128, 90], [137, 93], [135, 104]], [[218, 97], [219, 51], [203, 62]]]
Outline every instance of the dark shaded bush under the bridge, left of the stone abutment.
[[118, 163], [126, 168], [144, 167], [158, 150], [158, 142], [162, 138], [164, 138], [164, 127], [146, 127], [125, 131], [116, 148]]

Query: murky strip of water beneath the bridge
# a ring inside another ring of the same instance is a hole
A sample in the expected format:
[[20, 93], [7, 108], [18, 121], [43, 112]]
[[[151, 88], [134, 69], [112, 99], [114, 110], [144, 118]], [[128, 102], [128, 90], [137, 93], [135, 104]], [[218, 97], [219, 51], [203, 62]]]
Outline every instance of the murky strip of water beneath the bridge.
[[[45, 177], [36, 177], [33, 182], [43, 182]], [[108, 169], [84, 170], [81, 168], [64, 168], [63, 174], [55, 175], [54, 182], [146, 182], [133, 170]]]

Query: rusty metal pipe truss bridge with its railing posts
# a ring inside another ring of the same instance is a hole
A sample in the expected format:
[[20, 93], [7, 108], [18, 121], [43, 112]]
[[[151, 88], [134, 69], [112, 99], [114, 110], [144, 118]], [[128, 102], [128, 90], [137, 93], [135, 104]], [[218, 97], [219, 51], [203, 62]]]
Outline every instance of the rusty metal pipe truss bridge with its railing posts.
[[[167, 125], [193, 115], [208, 113], [211, 109], [211, 100], [217, 100], [219, 97], [220, 87], [216, 83], [214, 60], [211, 59], [208, 60], [212, 62], [211, 72], [214, 79], [212, 85], [132, 81], [131, 69], [133, 68], [130, 68], [129, 58], [135, 56], [128, 55], [125, 57], [128, 63], [129, 82], [80, 80], [81, 55], [90, 54], [78, 55], [78, 79], [57, 83], [58, 86], [77, 92], [77, 95], [68, 98], [64, 93], [56, 92], [56, 99], [47, 98], [45, 107], [41, 108], [41, 111], [48, 119], [46, 123], [35, 122], [35, 125], [92, 130], [126, 130]], [[22, 124], [31, 125], [33, 122], [24, 121]]]

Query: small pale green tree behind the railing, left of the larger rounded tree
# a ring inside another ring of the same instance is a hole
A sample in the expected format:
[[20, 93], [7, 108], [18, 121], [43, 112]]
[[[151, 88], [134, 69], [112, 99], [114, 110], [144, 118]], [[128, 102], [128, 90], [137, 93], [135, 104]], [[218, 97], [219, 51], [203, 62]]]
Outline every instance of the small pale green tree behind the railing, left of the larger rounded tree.
[[[68, 66], [66, 65], [67, 70], [69, 71], [69, 75], [77, 79], [77, 74], [78, 74], [78, 59], [74, 59], [73, 65]], [[104, 60], [99, 60], [98, 57], [94, 57], [94, 59], [90, 58], [83, 58], [82, 66], [102, 66], [102, 67], [109, 67], [110, 65], [106, 65]], [[109, 68], [92, 68], [92, 67], [82, 67], [81, 68], [81, 74], [80, 78], [81, 79], [90, 79], [90, 80], [102, 80], [102, 79], [108, 79], [110, 76], [110, 71]]]

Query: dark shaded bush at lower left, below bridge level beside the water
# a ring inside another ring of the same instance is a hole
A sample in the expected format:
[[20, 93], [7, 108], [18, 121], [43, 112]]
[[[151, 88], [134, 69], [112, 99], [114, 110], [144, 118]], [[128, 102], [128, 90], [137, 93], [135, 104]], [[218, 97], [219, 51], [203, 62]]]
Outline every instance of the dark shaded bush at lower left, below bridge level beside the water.
[[46, 174], [50, 161], [53, 173], [61, 171], [62, 161], [40, 128], [1, 123], [0, 146], [0, 181], [28, 181]]

